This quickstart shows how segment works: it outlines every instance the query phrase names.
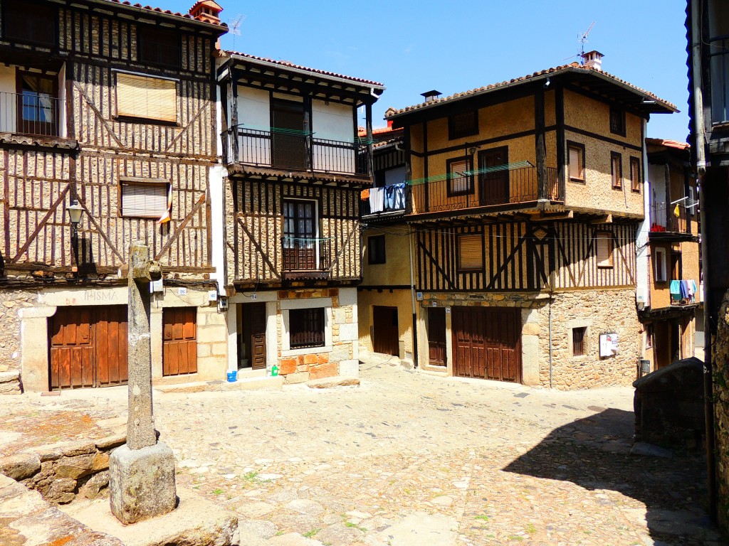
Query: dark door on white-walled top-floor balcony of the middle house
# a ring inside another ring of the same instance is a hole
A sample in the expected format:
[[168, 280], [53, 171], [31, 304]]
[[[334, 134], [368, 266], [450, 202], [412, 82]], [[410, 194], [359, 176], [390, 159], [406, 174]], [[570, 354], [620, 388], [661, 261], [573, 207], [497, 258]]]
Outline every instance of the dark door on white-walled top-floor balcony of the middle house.
[[273, 100], [273, 167], [306, 170], [303, 103]]

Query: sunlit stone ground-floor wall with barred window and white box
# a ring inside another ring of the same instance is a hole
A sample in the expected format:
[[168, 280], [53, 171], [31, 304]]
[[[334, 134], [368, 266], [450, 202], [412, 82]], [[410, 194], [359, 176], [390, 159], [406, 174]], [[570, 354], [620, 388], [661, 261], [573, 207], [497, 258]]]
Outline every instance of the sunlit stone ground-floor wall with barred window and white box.
[[[628, 386], [637, 377], [641, 327], [634, 288], [556, 292], [552, 304], [552, 386], [557, 389]], [[539, 309], [539, 382], [550, 385], [550, 306]], [[572, 329], [587, 328], [585, 355], [572, 356]], [[617, 355], [600, 357], [601, 333], [617, 333]]]

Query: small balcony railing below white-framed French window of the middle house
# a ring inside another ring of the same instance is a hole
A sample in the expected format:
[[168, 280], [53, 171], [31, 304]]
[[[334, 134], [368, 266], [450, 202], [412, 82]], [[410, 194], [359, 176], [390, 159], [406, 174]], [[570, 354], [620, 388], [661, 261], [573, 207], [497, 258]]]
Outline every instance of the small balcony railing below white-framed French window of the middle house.
[[281, 277], [286, 280], [328, 279], [330, 240], [310, 237], [282, 237]]

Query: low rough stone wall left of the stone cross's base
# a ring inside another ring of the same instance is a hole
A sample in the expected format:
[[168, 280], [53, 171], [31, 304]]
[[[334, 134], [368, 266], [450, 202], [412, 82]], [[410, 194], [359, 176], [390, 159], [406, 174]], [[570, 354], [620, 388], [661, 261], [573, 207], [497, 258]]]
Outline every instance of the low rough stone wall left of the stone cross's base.
[[38, 446], [0, 459], [0, 473], [65, 505], [77, 495], [94, 499], [109, 486], [109, 454], [126, 435]]

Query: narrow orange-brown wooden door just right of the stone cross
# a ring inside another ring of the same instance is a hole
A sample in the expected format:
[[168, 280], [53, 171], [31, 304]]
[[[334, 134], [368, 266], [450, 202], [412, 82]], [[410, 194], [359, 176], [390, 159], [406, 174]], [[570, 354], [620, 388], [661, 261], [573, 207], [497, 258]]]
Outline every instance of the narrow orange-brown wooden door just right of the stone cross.
[[162, 312], [162, 375], [198, 372], [198, 309], [168, 307]]

